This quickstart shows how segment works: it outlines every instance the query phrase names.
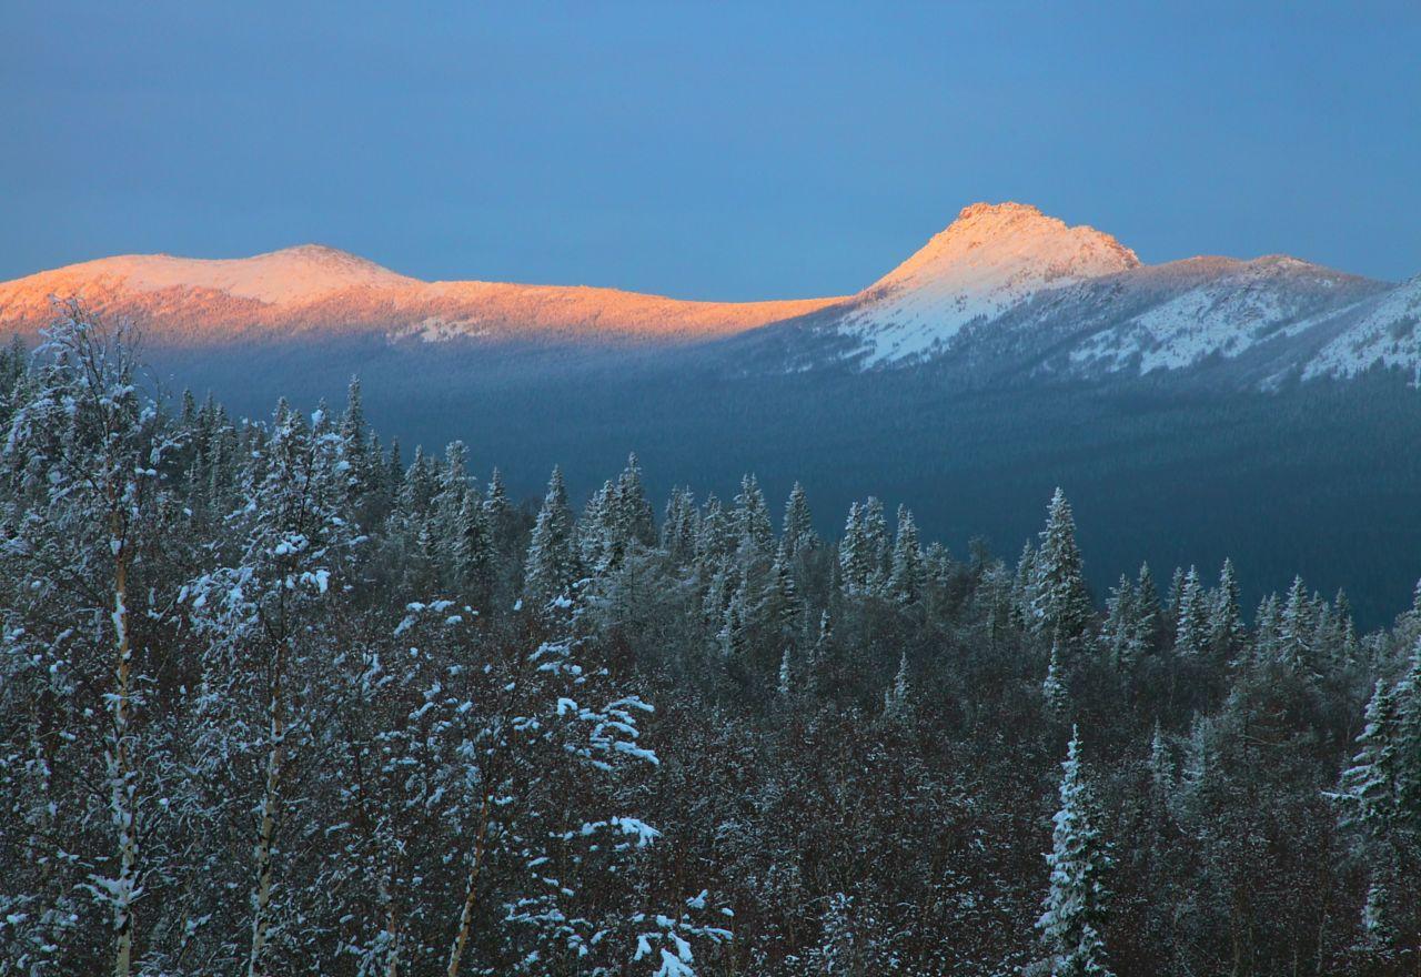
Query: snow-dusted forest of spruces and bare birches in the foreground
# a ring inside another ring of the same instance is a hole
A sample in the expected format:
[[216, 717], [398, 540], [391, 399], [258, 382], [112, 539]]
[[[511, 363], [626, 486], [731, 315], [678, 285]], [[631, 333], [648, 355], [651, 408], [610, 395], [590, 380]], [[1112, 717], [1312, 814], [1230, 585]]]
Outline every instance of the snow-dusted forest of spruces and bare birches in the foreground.
[[[0, 356], [0, 974], [1414, 974], [1421, 608]], [[659, 511], [658, 511], [659, 510]], [[837, 521], [837, 520], [836, 520]]]

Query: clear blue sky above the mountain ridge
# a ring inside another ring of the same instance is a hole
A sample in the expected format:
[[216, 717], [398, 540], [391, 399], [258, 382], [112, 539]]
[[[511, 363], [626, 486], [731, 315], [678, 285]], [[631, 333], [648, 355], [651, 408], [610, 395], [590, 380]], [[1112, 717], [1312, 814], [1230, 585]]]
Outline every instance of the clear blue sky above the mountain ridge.
[[1421, 4], [0, 3], [0, 280], [307, 241], [845, 294], [968, 203], [1421, 271]]

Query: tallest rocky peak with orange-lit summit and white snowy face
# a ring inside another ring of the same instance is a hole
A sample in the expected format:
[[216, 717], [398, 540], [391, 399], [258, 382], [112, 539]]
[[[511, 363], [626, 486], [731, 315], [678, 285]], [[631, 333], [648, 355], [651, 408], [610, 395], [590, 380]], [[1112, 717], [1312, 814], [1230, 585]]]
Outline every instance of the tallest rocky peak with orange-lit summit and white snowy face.
[[919, 359], [969, 322], [1138, 264], [1134, 251], [1093, 227], [1067, 227], [1020, 203], [975, 203], [865, 288], [838, 331], [863, 342], [865, 365]]

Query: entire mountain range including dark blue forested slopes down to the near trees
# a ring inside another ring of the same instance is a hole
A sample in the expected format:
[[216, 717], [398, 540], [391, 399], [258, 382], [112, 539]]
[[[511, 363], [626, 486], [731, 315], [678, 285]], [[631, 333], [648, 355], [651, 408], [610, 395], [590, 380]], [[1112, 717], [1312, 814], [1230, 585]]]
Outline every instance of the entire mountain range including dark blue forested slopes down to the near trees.
[[0, 284], [0, 334], [33, 339], [51, 295], [134, 320], [159, 382], [239, 413], [340, 403], [358, 373], [406, 449], [462, 439], [524, 497], [554, 463], [585, 497], [635, 450], [654, 493], [799, 479], [826, 533], [875, 494], [959, 552], [1015, 552], [1063, 486], [1101, 598], [1141, 554], [1161, 577], [1231, 557], [1265, 588], [1344, 586], [1378, 623], [1421, 577], [1421, 277], [1142, 264], [1003, 203], [803, 301], [431, 283], [304, 246], [44, 271]]

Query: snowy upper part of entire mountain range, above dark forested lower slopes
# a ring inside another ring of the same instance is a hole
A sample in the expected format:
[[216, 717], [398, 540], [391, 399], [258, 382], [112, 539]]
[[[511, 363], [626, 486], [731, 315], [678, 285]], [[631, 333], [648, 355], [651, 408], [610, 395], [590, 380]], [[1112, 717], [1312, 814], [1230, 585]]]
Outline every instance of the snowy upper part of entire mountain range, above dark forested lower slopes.
[[[128, 318], [153, 345], [328, 337], [460, 349], [662, 345], [735, 372], [912, 369], [1005, 378], [1188, 376], [1268, 388], [1373, 366], [1421, 373], [1421, 277], [1403, 285], [1286, 256], [1145, 266], [1110, 234], [1036, 207], [975, 203], [844, 298], [699, 302], [612, 288], [422, 281], [328, 247], [236, 260], [125, 256], [0, 284], [0, 332], [51, 297]], [[710, 341], [729, 339], [729, 344]]]

